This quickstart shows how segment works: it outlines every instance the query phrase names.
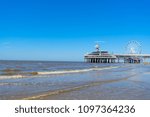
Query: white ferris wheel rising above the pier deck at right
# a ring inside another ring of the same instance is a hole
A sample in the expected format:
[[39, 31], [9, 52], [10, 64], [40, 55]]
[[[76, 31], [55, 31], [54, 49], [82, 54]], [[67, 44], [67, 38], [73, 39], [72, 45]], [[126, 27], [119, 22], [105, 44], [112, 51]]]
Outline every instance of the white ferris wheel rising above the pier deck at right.
[[142, 46], [138, 41], [129, 41], [126, 46], [126, 51], [128, 54], [141, 54]]

